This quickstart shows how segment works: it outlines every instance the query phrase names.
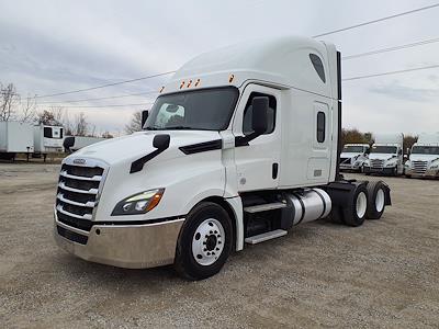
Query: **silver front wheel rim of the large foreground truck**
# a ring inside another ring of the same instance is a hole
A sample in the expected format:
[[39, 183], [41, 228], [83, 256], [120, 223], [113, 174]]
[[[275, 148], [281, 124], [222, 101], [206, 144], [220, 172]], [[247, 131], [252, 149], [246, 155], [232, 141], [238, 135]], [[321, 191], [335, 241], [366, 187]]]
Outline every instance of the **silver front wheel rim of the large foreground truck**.
[[199, 225], [192, 238], [192, 254], [203, 266], [212, 265], [224, 249], [223, 225], [215, 218], [207, 218]]

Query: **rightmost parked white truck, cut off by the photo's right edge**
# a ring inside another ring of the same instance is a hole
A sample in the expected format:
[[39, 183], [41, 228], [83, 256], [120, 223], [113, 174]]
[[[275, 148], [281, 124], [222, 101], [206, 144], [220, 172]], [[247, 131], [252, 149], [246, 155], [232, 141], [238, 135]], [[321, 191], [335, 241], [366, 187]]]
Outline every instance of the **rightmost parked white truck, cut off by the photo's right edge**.
[[419, 135], [405, 163], [405, 175], [439, 178], [439, 133]]

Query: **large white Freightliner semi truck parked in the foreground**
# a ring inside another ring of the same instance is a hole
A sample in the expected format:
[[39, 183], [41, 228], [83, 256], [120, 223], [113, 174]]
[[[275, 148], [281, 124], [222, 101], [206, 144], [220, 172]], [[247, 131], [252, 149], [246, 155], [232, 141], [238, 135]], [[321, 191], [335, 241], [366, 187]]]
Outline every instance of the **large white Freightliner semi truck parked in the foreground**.
[[143, 131], [61, 164], [55, 237], [121, 268], [173, 264], [189, 280], [232, 251], [330, 215], [349, 226], [391, 204], [381, 182], [344, 180], [340, 54], [302, 37], [203, 54], [161, 89]]

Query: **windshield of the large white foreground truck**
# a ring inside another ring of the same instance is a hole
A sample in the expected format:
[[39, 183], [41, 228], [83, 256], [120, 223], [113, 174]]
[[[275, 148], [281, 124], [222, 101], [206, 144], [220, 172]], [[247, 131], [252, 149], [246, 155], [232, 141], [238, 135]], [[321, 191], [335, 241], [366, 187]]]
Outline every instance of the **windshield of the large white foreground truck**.
[[166, 94], [156, 100], [144, 129], [224, 131], [237, 100], [234, 87]]

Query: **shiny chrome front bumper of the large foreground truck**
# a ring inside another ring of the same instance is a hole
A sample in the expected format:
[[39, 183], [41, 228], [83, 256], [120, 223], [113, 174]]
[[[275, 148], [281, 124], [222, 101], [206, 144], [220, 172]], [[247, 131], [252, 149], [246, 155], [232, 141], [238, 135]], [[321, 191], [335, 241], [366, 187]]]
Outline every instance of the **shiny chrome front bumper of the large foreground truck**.
[[67, 226], [55, 213], [55, 240], [68, 252], [97, 263], [146, 269], [173, 263], [184, 218], [143, 225], [93, 225], [90, 231]]

